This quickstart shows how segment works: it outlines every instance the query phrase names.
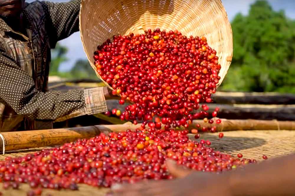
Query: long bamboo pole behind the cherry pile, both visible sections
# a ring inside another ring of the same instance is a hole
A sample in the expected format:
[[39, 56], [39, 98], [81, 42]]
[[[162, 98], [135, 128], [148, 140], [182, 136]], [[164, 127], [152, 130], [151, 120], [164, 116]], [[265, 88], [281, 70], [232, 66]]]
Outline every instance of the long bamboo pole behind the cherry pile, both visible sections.
[[[277, 120], [227, 120], [222, 119], [221, 124], [208, 124], [203, 120], [194, 120], [189, 129], [201, 126], [216, 126], [217, 131], [234, 131], [234, 130], [295, 130], [293, 121]], [[91, 138], [100, 133], [122, 132], [127, 129], [135, 130], [141, 125], [125, 123], [118, 125], [96, 125], [89, 127], [75, 127], [64, 129], [47, 129], [34, 131], [3, 132], [0, 134], [0, 151], [2, 152], [56, 146], [67, 142], [73, 142], [77, 139]]]

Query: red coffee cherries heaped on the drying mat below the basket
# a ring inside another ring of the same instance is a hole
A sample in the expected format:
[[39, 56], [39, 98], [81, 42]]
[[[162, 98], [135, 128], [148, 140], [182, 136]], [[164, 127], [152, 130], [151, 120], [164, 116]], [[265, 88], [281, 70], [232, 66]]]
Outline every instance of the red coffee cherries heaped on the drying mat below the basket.
[[193, 170], [219, 173], [256, 162], [222, 154], [210, 147], [211, 142], [192, 141], [187, 134], [187, 130], [140, 128], [78, 139], [24, 157], [7, 157], [0, 162], [0, 179], [4, 188], [28, 183], [38, 192], [40, 188], [78, 190], [79, 183], [110, 187], [172, 179], [166, 159]]

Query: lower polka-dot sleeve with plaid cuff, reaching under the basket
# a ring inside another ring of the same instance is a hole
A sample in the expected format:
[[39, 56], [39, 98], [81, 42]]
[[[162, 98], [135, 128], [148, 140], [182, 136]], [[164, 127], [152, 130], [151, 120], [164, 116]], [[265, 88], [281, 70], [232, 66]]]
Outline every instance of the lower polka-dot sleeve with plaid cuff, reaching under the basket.
[[17, 114], [36, 120], [55, 120], [74, 112], [79, 116], [107, 111], [102, 87], [67, 93], [40, 92], [35, 88], [33, 79], [2, 52], [0, 98]]

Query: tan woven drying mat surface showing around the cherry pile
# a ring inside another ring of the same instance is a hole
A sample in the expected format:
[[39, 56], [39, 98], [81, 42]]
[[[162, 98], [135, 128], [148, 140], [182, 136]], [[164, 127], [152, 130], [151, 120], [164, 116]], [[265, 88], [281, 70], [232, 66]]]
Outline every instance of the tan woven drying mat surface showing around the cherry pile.
[[[269, 158], [278, 157], [295, 153], [295, 131], [231, 131], [224, 132], [222, 139], [218, 138], [219, 133], [206, 133], [201, 135], [201, 139], [210, 140], [212, 147], [223, 153], [237, 155], [242, 153], [245, 158], [261, 160], [262, 155], [267, 155]], [[190, 135], [191, 139], [194, 137]], [[28, 153], [41, 150], [43, 148], [34, 148], [29, 150], [18, 150], [8, 152], [6, 155], [0, 155], [0, 160], [5, 157], [23, 156]], [[21, 185], [19, 190], [3, 190], [0, 183], [0, 192], [7, 196], [22, 196], [30, 190], [28, 185]], [[79, 185], [79, 191], [69, 190], [43, 190], [44, 196], [84, 196], [96, 195], [104, 196], [108, 189], [98, 189], [87, 185]]]

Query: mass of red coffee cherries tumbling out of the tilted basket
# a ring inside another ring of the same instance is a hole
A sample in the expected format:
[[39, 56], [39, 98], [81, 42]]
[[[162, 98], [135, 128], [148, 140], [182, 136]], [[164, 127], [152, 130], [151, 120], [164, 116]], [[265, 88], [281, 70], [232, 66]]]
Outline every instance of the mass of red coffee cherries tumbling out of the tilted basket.
[[119, 112], [122, 120], [145, 124], [158, 116], [168, 130], [217, 115], [208, 114], [206, 104], [200, 106], [212, 102], [221, 68], [205, 37], [148, 29], [108, 39], [98, 46], [94, 59], [101, 78], [121, 96], [119, 103], [133, 103]]

